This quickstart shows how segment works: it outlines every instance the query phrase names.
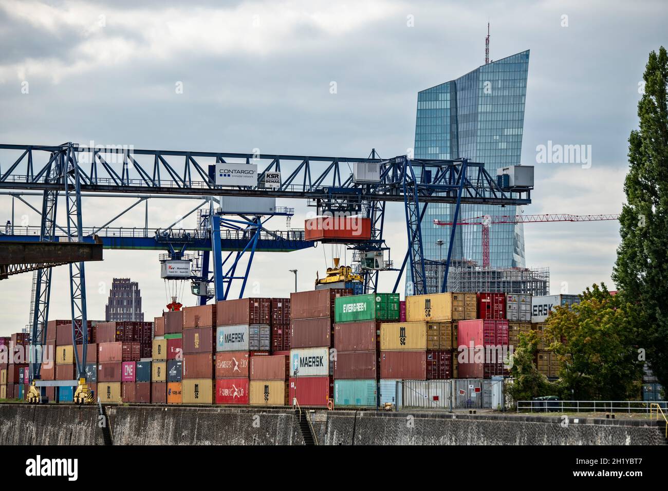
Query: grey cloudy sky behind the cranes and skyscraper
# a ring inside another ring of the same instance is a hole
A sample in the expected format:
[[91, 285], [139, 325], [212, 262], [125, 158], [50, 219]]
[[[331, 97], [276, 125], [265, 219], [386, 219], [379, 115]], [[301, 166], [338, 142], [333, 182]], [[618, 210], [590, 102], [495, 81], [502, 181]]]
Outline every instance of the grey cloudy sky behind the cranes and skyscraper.
[[[0, 143], [129, 145], [160, 150], [383, 157], [413, 146], [417, 92], [484, 63], [531, 50], [522, 163], [536, 165], [526, 213], [616, 213], [639, 81], [666, 42], [665, 1], [204, 1], [0, 0]], [[331, 94], [335, 81], [336, 94]], [[182, 87], [182, 93], [176, 88]], [[26, 90], [27, 88], [27, 90]], [[27, 92], [27, 93], [25, 93]], [[536, 147], [591, 145], [591, 167], [536, 163]], [[9, 158], [0, 154], [0, 170]], [[27, 200], [39, 208], [36, 196]], [[88, 198], [85, 226], [132, 198]], [[300, 202], [293, 226], [308, 209]], [[190, 210], [152, 200], [149, 226]], [[403, 210], [389, 206], [392, 258], [405, 253]], [[0, 220], [11, 198], [0, 196]], [[39, 224], [15, 202], [15, 222]], [[189, 220], [189, 221], [188, 221]], [[274, 218], [275, 228], [285, 219]], [[115, 222], [143, 226], [138, 206]], [[186, 218], [186, 227], [194, 220]], [[526, 261], [549, 267], [552, 293], [605, 281], [617, 222], [525, 226]], [[104, 251], [86, 265], [88, 317], [104, 318], [112, 277], [139, 281], [147, 319], [168, 303], [158, 251]], [[324, 271], [329, 247], [256, 256], [247, 294], [284, 295]], [[389, 291], [394, 273], [385, 273]], [[67, 267], [54, 270], [50, 319], [69, 317]], [[0, 334], [28, 321], [31, 275], [0, 282]], [[182, 302], [193, 305], [184, 294]]]

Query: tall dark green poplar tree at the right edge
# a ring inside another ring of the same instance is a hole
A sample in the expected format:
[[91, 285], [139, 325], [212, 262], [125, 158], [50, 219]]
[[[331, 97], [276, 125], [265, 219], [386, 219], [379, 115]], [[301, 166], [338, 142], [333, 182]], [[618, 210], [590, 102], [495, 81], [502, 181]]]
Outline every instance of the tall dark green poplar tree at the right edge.
[[627, 301], [641, 307], [635, 319], [641, 347], [668, 387], [668, 54], [649, 53], [638, 103], [639, 129], [629, 137], [629, 173], [613, 280]]

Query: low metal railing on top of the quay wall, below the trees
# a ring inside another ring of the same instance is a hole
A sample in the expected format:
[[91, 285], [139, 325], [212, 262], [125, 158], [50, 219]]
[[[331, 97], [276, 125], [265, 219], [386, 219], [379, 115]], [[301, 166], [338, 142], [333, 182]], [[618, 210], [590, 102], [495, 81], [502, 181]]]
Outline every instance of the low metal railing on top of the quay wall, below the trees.
[[667, 401], [561, 401], [542, 399], [538, 401], [517, 401], [517, 412], [592, 412], [592, 413], [646, 413], [652, 403], [661, 409], [668, 409]]

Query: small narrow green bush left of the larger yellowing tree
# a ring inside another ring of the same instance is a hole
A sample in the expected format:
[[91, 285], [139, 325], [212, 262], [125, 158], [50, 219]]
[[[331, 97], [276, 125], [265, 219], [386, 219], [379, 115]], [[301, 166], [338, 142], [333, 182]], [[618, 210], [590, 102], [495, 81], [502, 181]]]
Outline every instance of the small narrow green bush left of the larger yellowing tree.
[[520, 333], [518, 347], [512, 355], [512, 383], [506, 385], [506, 391], [515, 401], [530, 401], [532, 397], [556, 395], [556, 391], [545, 375], [542, 375], [534, 358], [538, 347], [535, 331]]

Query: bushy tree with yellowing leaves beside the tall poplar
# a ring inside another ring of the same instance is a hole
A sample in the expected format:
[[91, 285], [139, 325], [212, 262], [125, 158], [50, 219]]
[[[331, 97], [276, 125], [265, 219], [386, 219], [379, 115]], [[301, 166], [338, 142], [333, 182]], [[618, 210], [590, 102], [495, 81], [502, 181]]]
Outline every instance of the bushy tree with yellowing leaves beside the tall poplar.
[[644, 362], [635, 333], [638, 307], [610, 295], [603, 283], [582, 293], [572, 310], [556, 307], [545, 329], [548, 349], [561, 363], [558, 383], [564, 399], [637, 399]]

